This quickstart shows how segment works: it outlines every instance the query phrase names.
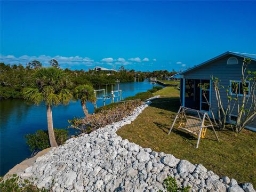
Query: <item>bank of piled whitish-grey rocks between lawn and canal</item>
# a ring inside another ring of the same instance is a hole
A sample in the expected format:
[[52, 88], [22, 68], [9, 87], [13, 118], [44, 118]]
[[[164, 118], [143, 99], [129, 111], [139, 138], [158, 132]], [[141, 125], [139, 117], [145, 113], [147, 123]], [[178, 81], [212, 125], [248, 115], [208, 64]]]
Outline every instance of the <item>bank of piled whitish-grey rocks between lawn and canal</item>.
[[220, 178], [201, 164], [193, 165], [119, 137], [116, 131], [130, 124], [149, 103], [123, 121], [53, 148], [38, 157], [21, 178], [36, 178], [35, 184], [46, 188], [54, 180], [54, 191], [158, 191], [171, 175], [178, 185], [189, 185], [192, 191], [255, 191], [250, 183], [239, 186], [236, 180]]

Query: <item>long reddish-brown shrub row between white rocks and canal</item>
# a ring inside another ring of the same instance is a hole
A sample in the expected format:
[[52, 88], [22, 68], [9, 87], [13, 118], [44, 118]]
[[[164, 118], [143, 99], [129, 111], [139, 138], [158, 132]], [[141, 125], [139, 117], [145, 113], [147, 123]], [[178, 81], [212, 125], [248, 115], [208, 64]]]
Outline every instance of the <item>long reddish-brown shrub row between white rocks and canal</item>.
[[118, 107], [101, 110], [99, 113], [90, 114], [84, 118], [74, 118], [69, 126], [84, 133], [90, 133], [100, 127], [121, 121], [124, 117], [132, 114], [132, 111], [142, 104], [141, 101], [119, 103]]

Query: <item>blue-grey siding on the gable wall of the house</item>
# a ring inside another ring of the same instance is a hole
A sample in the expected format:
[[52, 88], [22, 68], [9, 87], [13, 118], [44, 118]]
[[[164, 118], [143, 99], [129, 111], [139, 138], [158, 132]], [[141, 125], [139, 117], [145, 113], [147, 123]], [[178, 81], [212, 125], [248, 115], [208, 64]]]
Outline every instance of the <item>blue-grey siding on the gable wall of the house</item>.
[[[226, 89], [228, 89], [230, 80], [239, 81], [241, 80], [242, 76], [243, 58], [236, 57], [238, 59], [238, 65], [227, 65], [227, 60], [229, 57], [234, 57], [234, 55], [226, 55], [226, 57], [222, 57], [218, 60], [209, 62], [200, 68], [195, 68], [194, 70], [187, 71], [185, 74], [183, 74], [183, 78], [211, 79], [211, 76], [218, 77], [221, 81], [220, 84], [225, 87], [225, 89], [220, 89], [221, 100], [225, 104], [227, 103]], [[256, 62], [252, 61], [247, 69], [251, 71], [256, 71]], [[215, 117], [217, 117], [217, 100], [213, 88], [211, 90], [211, 106], [214, 111]], [[224, 107], [227, 107], [227, 105], [224, 105]], [[256, 128], [256, 119], [254, 119], [254, 121], [248, 126]]]

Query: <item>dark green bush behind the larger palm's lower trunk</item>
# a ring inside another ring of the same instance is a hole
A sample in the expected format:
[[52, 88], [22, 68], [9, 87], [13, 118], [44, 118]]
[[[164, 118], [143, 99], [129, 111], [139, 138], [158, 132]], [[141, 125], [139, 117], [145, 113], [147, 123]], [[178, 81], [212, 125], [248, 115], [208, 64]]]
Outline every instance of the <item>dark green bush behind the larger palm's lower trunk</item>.
[[[68, 131], [64, 129], [54, 129], [54, 135], [58, 145], [63, 145], [68, 139]], [[47, 130], [37, 130], [34, 134], [29, 133], [25, 135], [25, 138], [31, 151], [51, 147]]]

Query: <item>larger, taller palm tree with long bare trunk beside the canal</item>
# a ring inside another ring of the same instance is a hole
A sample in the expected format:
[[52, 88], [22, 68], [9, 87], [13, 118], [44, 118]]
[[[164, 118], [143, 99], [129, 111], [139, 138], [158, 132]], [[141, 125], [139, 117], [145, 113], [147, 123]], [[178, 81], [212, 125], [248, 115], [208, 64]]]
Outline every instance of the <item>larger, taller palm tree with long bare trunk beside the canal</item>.
[[38, 68], [29, 77], [30, 87], [23, 89], [23, 98], [39, 105], [44, 102], [47, 109], [47, 125], [51, 147], [57, 147], [52, 121], [52, 106], [67, 105], [72, 98], [67, 89], [71, 82], [62, 69], [56, 67]]

